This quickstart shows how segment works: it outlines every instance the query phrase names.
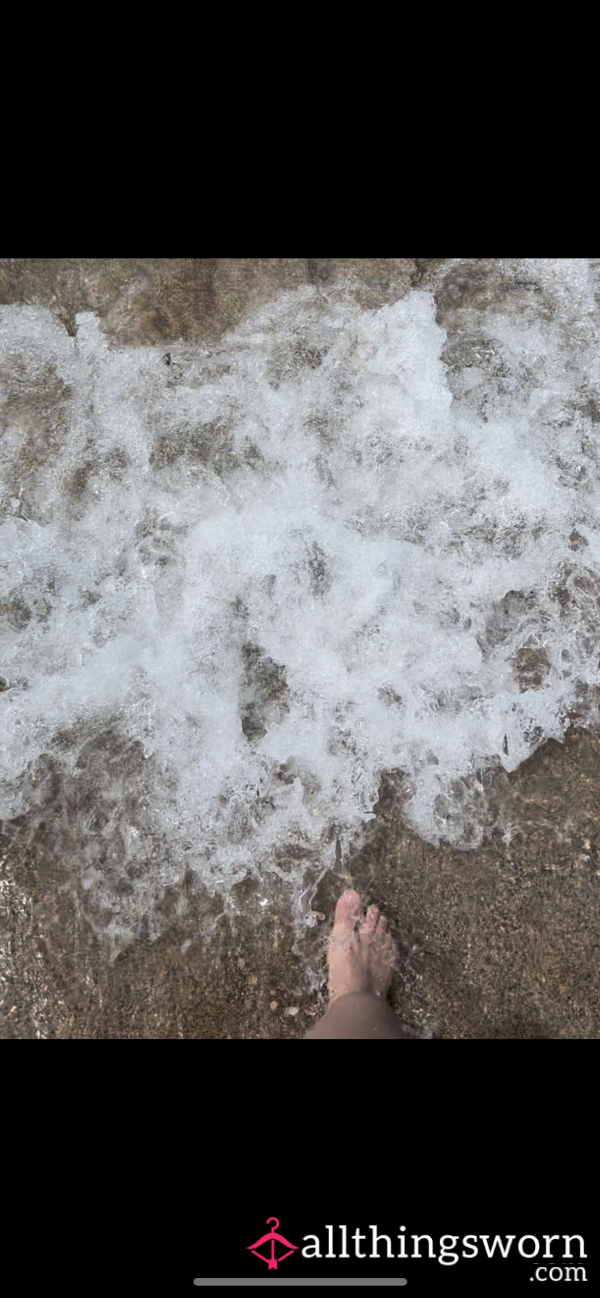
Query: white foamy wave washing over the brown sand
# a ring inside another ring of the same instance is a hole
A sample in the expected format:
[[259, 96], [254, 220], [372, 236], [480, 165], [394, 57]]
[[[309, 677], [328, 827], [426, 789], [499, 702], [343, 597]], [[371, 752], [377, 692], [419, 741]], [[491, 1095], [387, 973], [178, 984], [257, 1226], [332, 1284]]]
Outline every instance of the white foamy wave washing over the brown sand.
[[[503, 380], [471, 363], [453, 391], [426, 292], [366, 312], [343, 291], [323, 308], [304, 288], [212, 354], [173, 347], [179, 370], [164, 348], [110, 349], [94, 315], [78, 315], [70, 339], [45, 310], [0, 308], [4, 373], [16, 357], [32, 375], [51, 363], [74, 392], [62, 444], [27, 483], [36, 520], [10, 517], [18, 421], [1, 443], [0, 601], [42, 598], [40, 574], [55, 572], [48, 619], [9, 619], [1, 641], [14, 685], [0, 697], [4, 819], [30, 807], [25, 771], [58, 728], [118, 714], [144, 745], [173, 870], [184, 859], [210, 889], [277, 870], [290, 839], [331, 851], [331, 824], [342, 837], [360, 829], [388, 768], [406, 772], [405, 814], [426, 841], [481, 841], [477, 802], [465, 810], [455, 781], [490, 763], [514, 770], [561, 739], [577, 683], [597, 680], [592, 271], [526, 270], [553, 314], [488, 315]], [[219, 427], [232, 440], [216, 459]], [[157, 467], [169, 437], [190, 453]], [[121, 480], [103, 459], [116, 449]], [[77, 513], [62, 484], [86, 457]], [[577, 552], [574, 527], [587, 541]], [[564, 611], [552, 597], [561, 565]], [[517, 601], [490, 636], [508, 592], [535, 602]], [[251, 741], [240, 714], [258, 687], [244, 644], [287, 683], [281, 698], [260, 697], [266, 733]], [[513, 665], [527, 648], [549, 667], [522, 692]], [[61, 753], [71, 770], [75, 758]], [[126, 840], [129, 859], [147, 850]], [[127, 905], [139, 911], [140, 896]]]

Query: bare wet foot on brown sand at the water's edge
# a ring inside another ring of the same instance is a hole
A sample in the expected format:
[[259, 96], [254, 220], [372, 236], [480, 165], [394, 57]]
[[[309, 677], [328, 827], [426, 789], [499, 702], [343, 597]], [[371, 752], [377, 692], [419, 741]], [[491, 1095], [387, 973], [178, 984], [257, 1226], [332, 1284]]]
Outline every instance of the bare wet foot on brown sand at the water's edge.
[[358, 893], [347, 888], [335, 907], [329, 940], [330, 1005], [347, 992], [386, 996], [399, 963], [399, 950], [386, 916], [379, 914], [377, 906], [369, 906], [364, 916]]

